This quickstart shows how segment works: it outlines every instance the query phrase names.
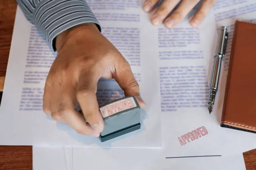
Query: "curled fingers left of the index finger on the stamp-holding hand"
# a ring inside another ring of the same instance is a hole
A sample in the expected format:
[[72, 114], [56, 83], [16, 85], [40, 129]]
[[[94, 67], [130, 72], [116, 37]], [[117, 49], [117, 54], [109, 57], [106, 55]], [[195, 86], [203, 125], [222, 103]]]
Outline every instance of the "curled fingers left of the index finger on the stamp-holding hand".
[[80, 134], [98, 136], [98, 133], [95, 133], [95, 130], [86, 122], [84, 116], [75, 110], [78, 105], [77, 86], [70, 81], [61, 82], [60, 85], [56, 79], [55, 81], [53, 79], [52, 77], [48, 78], [44, 88], [44, 112], [51, 115], [56, 121], [66, 122]]

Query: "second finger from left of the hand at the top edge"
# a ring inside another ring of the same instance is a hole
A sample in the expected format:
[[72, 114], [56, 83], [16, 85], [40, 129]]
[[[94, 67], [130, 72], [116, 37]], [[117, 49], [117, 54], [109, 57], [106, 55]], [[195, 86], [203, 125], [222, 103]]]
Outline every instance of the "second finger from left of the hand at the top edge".
[[163, 23], [167, 15], [174, 9], [180, 0], [164, 0], [156, 10], [151, 21], [154, 25]]

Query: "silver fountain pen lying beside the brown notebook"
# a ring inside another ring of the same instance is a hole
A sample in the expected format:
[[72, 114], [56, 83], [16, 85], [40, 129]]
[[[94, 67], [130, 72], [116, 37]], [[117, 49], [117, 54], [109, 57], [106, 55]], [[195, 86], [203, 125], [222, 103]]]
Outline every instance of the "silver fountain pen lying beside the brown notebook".
[[210, 89], [209, 89], [209, 98], [208, 98], [208, 110], [209, 113], [213, 110], [213, 104], [215, 96], [218, 90], [218, 82], [220, 79], [220, 68], [221, 60], [225, 56], [227, 42], [228, 42], [228, 32], [226, 27], [220, 27], [220, 35], [218, 41], [218, 49], [214, 56], [214, 64], [212, 67], [212, 75], [210, 79]]

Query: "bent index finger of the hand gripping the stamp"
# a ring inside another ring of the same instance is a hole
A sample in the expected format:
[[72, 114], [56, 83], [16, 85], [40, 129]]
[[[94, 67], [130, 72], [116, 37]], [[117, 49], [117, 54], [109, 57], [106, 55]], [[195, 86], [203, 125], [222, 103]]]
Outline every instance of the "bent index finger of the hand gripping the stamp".
[[96, 97], [97, 82], [99, 79], [99, 72], [85, 72], [80, 75], [77, 85], [77, 100], [85, 119], [95, 130], [96, 136], [99, 136], [104, 129], [104, 122]]

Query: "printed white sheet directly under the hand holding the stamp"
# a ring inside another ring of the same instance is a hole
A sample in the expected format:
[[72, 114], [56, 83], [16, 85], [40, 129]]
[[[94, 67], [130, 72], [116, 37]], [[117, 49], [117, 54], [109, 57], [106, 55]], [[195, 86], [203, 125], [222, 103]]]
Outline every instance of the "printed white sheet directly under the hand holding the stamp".
[[[18, 8], [0, 108], [0, 128], [5, 129], [0, 131], [0, 144], [162, 147], [157, 28], [146, 20], [148, 15], [139, 5], [133, 7], [111, 10], [111, 13], [94, 11], [103, 35], [122, 52], [140, 84], [141, 96], [147, 103], [141, 112], [141, 129], [101, 143], [98, 138], [80, 135], [68, 125], [46, 116], [42, 110], [44, 83], [56, 53]], [[114, 80], [101, 79], [97, 90], [99, 105], [117, 97], [116, 92], [124, 95]]]

